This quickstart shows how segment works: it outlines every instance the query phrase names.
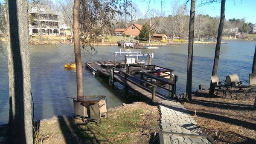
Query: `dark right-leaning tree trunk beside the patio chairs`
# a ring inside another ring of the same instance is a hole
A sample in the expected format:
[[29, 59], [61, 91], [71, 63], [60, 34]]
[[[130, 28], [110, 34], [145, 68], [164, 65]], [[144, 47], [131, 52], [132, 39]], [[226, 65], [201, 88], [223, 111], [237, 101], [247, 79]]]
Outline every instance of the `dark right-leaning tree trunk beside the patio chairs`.
[[[218, 27], [218, 37], [217, 37], [217, 43], [216, 43], [216, 48], [215, 48], [212, 76], [216, 75], [217, 70], [218, 70], [218, 59], [219, 59], [220, 48], [221, 48], [221, 37], [222, 37], [222, 31], [223, 31], [223, 26], [224, 26], [224, 22], [225, 22], [225, 2], [226, 2], [226, 0], [221, 0], [221, 19], [220, 19], [220, 24]], [[212, 85], [212, 82], [211, 82], [209, 94], [213, 94], [214, 91], [215, 91], [215, 87]]]

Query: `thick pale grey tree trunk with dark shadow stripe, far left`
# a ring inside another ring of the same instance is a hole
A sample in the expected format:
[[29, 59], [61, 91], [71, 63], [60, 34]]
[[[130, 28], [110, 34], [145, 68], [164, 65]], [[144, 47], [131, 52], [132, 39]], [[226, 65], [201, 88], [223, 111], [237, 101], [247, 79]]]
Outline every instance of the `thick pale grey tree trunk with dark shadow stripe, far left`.
[[29, 17], [27, 0], [7, 0], [9, 144], [32, 144]]

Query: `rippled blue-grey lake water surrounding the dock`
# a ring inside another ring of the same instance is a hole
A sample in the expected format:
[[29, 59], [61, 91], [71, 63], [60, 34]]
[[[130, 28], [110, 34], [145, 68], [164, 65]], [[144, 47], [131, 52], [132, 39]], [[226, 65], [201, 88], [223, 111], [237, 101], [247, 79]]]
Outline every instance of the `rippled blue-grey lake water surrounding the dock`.
[[[240, 79], [248, 79], [253, 63], [255, 41], [225, 41], [221, 45], [218, 75], [221, 79], [237, 73]], [[76, 95], [76, 71], [64, 69], [64, 63], [74, 61], [73, 45], [30, 45], [31, 48], [31, 86], [35, 105], [35, 119], [47, 119], [54, 115], [71, 115], [73, 101], [67, 96]], [[142, 49], [143, 53], [154, 53], [152, 64], [174, 69], [178, 76], [177, 93], [186, 89], [188, 45], [172, 45], [160, 49]], [[96, 47], [98, 53], [90, 55], [82, 52], [84, 94], [106, 95], [108, 107], [122, 103], [139, 101], [135, 94], [129, 98], [123, 96], [122, 86], [112, 89], [108, 79], [93, 76], [85, 68], [84, 61], [113, 60], [113, 52], [119, 47]], [[122, 50], [124, 51], [124, 50]], [[198, 85], [209, 88], [209, 76], [212, 73], [215, 45], [194, 45], [192, 88]], [[6, 54], [6, 53], [5, 53]], [[119, 57], [124, 59], [124, 57]], [[8, 62], [0, 53], [0, 124], [8, 122], [9, 116], [9, 81]], [[119, 89], [121, 88], [121, 89]]]

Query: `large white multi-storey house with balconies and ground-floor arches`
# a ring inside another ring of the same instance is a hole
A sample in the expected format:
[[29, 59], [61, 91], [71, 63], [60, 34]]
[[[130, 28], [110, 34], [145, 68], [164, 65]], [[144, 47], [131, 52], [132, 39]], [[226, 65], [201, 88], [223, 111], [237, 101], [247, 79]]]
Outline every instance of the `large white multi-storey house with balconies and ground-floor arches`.
[[29, 34], [59, 35], [58, 14], [43, 4], [29, 3]]

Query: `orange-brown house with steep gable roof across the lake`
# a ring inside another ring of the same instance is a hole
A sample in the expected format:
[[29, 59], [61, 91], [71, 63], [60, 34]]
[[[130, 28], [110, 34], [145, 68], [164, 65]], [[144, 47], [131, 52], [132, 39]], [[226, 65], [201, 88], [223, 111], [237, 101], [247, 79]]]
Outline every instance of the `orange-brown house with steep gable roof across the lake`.
[[128, 28], [116, 28], [115, 34], [126, 34], [131, 36], [138, 36], [143, 25], [131, 24]]

